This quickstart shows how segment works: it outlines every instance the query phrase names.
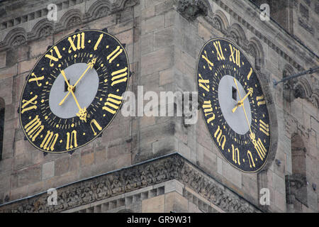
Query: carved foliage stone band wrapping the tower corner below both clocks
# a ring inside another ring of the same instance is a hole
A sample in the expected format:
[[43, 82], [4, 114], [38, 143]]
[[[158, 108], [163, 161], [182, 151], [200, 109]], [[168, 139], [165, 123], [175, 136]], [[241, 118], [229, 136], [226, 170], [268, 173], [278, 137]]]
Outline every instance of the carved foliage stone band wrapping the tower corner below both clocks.
[[177, 153], [91, 177], [57, 188], [57, 206], [47, 205], [47, 192], [0, 205], [0, 213], [61, 212], [126, 192], [177, 179], [227, 212], [260, 212]]

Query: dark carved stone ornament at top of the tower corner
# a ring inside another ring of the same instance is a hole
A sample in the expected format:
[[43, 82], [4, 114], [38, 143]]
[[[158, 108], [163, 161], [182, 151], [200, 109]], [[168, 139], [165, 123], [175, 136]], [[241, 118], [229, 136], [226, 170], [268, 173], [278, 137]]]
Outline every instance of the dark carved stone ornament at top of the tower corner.
[[202, 0], [179, 0], [177, 11], [190, 21], [194, 21], [198, 16], [207, 16], [208, 6]]

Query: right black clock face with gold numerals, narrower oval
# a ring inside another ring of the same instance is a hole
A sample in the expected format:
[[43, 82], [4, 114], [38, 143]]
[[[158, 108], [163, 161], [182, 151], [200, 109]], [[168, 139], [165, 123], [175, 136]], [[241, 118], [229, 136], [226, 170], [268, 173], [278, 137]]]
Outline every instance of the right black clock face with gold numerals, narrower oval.
[[250, 62], [234, 43], [215, 38], [203, 46], [196, 76], [203, 118], [220, 153], [243, 172], [261, 170], [271, 128], [267, 101]]

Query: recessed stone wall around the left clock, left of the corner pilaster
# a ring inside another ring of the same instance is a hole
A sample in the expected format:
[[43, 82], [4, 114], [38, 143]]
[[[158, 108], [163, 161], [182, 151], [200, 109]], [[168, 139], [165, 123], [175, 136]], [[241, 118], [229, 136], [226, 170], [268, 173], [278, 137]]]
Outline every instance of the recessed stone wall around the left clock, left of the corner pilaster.
[[[134, 70], [133, 8], [128, 4], [122, 6], [121, 11], [114, 12], [111, 11], [111, 4], [106, 5], [102, 1], [77, 2], [79, 4], [69, 8], [61, 6], [57, 23], [52, 24], [47, 33], [43, 33], [35, 40], [22, 40], [22, 43], [16, 45], [11, 43], [9, 49], [1, 51], [0, 97], [6, 104], [4, 151], [0, 161], [1, 203], [45, 192], [51, 187], [132, 164], [130, 152], [135, 142], [130, 141], [132, 141], [134, 123], [132, 118], [124, 118], [121, 113], [114, 118], [101, 138], [76, 150], [72, 155], [69, 153], [44, 155], [24, 140], [17, 113], [21, 91], [26, 82], [25, 78], [39, 57], [47, 50], [48, 45], [53, 45], [76, 29], [108, 28], [109, 33], [116, 35], [121, 43], [126, 44], [130, 67]], [[123, 4], [122, 1], [117, 3]], [[47, 4], [37, 6], [46, 8]], [[75, 10], [77, 13], [74, 14]], [[89, 16], [91, 18], [88, 19]], [[46, 16], [40, 19], [47, 21]], [[61, 24], [62, 22], [65, 24]], [[31, 21], [21, 26], [26, 32], [32, 32], [32, 23]], [[65, 28], [58, 29], [59, 26]], [[11, 28], [4, 29], [1, 35], [10, 30]], [[130, 82], [129, 90], [132, 89], [132, 84], [133, 82]]]

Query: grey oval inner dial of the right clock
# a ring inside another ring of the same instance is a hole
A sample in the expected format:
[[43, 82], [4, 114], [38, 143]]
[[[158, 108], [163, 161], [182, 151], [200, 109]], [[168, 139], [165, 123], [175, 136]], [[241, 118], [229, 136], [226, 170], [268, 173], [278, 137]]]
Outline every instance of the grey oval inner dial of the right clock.
[[[243, 99], [246, 95], [240, 82], [236, 79], [237, 86], [240, 92], [240, 97]], [[240, 97], [237, 92], [237, 87], [234, 82], [234, 77], [230, 75], [225, 75], [220, 79], [218, 85], [218, 101], [222, 114], [227, 121], [230, 128], [235, 131], [235, 133], [244, 135], [250, 128], [247, 124], [245, 117], [245, 112], [242, 106], [238, 106], [235, 113], [233, 113], [233, 108], [240, 101]], [[250, 101], [249, 96], [244, 101], [245, 111], [247, 114], [248, 121], [251, 125], [252, 123], [252, 113], [250, 111]]]

